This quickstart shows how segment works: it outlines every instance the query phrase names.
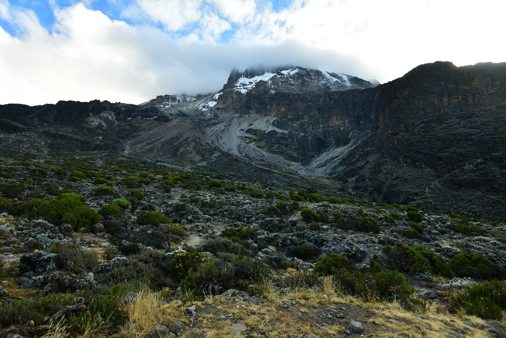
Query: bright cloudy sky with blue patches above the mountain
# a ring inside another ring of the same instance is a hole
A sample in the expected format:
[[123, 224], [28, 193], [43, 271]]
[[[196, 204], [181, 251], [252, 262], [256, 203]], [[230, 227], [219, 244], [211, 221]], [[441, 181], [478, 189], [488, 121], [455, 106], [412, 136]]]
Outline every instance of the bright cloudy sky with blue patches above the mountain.
[[504, 0], [0, 0], [0, 104], [139, 104], [219, 91], [237, 67], [381, 83], [506, 61]]

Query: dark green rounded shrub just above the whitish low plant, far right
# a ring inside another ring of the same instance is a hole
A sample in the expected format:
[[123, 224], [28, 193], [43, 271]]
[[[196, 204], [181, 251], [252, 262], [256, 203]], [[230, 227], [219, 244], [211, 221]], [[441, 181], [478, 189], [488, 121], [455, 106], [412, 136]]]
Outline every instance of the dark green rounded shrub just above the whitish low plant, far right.
[[487, 280], [504, 278], [504, 268], [475, 252], [456, 254], [450, 260], [450, 269], [458, 277]]

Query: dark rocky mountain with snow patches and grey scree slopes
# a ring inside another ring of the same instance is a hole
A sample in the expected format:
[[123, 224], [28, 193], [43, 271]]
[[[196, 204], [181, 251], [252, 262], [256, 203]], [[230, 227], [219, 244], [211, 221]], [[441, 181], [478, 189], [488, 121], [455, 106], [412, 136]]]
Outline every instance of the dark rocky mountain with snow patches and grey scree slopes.
[[209, 95], [0, 106], [0, 142], [107, 151], [376, 201], [505, 217], [506, 63], [420, 65], [392, 82], [296, 66], [233, 70]]

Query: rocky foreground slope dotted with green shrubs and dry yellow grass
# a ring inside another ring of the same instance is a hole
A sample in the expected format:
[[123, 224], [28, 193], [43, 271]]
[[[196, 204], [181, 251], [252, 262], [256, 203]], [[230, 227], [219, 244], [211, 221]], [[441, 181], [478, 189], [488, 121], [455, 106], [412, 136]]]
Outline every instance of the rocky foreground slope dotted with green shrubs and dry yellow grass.
[[500, 221], [93, 154], [0, 154], [0, 336], [506, 334]]

